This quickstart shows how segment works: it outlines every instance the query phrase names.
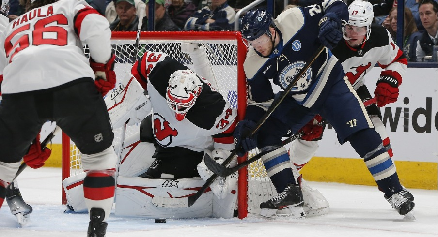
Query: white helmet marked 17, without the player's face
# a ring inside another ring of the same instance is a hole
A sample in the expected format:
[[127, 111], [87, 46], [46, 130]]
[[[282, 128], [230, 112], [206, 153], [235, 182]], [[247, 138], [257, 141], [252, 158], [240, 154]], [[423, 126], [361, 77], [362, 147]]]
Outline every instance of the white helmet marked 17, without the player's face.
[[[348, 15], [349, 19], [347, 25], [366, 27], [366, 38], [364, 42], [368, 40], [371, 33], [371, 24], [373, 23], [374, 19], [373, 5], [368, 1], [355, 0], [350, 4], [350, 6], [348, 6]], [[349, 39], [346, 38], [345, 27], [342, 29], [344, 32], [344, 39]]]

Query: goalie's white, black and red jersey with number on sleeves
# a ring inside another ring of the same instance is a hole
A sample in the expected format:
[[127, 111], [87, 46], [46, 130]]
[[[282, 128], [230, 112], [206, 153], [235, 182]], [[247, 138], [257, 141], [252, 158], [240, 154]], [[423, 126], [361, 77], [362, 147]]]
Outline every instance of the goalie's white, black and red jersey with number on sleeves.
[[152, 127], [163, 147], [184, 147], [194, 151], [234, 148], [233, 131], [237, 110], [203, 79], [203, 88], [185, 118], [178, 121], [166, 101], [171, 74], [186, 66], [160, 52], [147, 52], [134, 64], [132, 74], [150, 95]]

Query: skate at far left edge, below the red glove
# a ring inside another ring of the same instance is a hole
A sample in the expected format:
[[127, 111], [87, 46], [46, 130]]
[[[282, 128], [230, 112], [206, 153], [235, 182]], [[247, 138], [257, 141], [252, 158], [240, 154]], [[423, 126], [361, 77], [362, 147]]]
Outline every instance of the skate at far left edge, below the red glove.
[[16, 181], [12, 182], [6, 189], [6, 202], [11, 213], [16, 216], [17, 222], [21, 226], [25, 226], [30, 220], [33, 209], [23, 200]]

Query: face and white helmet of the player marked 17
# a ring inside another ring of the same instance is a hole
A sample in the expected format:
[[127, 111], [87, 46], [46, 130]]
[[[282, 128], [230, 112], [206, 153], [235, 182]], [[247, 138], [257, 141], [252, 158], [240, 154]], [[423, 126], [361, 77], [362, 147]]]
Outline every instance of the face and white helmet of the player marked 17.
[[342, 28], [344, 39], [351, 39], [346, 32], [350, 31], [355, 35], [366, 35], [362, 43], [367, 41], [370, 38], [371, 24], [374, 19], [373, 5], [368, 1], [355, 0], [348, 7], [348, 15], [347, 25]]

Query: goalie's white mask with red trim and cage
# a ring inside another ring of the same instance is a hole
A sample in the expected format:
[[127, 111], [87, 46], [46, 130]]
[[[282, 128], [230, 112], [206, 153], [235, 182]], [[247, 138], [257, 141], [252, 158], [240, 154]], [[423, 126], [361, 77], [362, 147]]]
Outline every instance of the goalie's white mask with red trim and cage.
[[167, 87], [166, 100], [169, 107], [175, 112], [175, 117], [181, 121], [187, 111], [193, 107], [203, 83], [197, 74], [191, 70], [178, 70], [172, 73]]

